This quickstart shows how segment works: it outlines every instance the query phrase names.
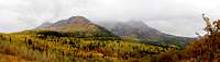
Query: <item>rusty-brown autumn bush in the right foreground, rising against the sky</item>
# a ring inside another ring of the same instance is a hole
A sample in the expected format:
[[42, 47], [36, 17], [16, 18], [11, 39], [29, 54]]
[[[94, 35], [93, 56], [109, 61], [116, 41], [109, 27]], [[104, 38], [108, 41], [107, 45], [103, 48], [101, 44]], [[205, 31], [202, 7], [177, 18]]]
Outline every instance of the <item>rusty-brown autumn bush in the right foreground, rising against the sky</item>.
[[163, 62], [219, 62], [220, 61], [220, 20], [211, 21], [204, 15], [207, 34], [191, 41], [184, 50], [161, 53]]

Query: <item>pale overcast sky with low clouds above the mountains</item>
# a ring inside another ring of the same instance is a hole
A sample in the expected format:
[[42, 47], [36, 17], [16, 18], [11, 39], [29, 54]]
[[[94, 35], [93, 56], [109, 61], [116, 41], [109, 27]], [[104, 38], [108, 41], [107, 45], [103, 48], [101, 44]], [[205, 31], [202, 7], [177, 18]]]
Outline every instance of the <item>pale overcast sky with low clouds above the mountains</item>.
[[144, 21], [164, 33], [195, 36], [202, 33], [201, 13], [220, 17], [219, 0], [0, 0], [0, 32], [36, 27], [82, 15], [92, 22]]

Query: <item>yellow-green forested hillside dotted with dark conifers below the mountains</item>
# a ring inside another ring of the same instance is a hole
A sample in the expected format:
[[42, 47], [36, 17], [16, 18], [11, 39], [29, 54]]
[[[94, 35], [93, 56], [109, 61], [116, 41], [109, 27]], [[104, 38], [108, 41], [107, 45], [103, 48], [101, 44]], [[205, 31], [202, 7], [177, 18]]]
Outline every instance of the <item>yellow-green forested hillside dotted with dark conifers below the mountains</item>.
[[68, 35], [53, 30], [1, 34], [0, 61], [148, 62], [156, 54], [175, 49], [124, 41], [118, 37]]

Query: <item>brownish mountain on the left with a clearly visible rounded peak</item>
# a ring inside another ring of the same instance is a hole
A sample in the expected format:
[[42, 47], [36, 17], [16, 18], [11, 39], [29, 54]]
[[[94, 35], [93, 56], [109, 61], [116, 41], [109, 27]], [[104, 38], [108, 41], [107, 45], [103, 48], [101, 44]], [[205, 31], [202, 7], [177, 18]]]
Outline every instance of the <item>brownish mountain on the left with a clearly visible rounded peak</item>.
[[55, 30], [63, 33], [80, 33], [87, 36], [105, 35], [113, 36], [108, 29], [90, 22], [84, 16], [72, 16], [67, 20], [61, 20], [56, 23], [43, 23], [35, 29], [37, 30]]

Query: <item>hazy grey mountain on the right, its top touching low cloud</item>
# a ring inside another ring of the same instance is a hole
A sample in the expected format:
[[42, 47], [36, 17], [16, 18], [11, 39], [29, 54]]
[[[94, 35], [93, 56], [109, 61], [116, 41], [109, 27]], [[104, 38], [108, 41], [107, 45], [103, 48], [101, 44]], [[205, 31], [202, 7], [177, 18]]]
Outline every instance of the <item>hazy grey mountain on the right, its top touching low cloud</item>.
[[127, 40], [138, 40], [151, 45], [185, 46], [191, 38], [168, 35], [147, 26], [141, 21], [117, 23], [111, 32]]

